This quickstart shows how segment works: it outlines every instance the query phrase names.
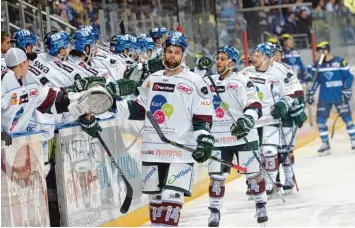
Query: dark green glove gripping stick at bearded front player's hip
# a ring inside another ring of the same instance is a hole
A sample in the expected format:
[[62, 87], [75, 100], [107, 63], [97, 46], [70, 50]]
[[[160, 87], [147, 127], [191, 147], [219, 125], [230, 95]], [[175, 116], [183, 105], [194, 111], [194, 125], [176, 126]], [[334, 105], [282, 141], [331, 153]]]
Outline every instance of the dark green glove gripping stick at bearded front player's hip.
[[192, 154], [193, 159], [199, 163], [207, 161], [211, 157], [214, 142], [212, 135], [199, 135], [196, 150]]

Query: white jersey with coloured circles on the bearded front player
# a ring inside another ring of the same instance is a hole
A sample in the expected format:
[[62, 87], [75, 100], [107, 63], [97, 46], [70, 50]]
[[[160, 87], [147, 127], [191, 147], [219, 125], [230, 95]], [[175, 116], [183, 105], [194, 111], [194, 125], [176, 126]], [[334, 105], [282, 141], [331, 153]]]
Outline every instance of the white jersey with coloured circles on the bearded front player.
[[[209, 128], [213, 114], [211, 93], [204, 80], [193, 72], [184, 70], [170, 77], [164, 76], [164, 72], [157, 71], [143, 82], [136, 105], [142, 114], [145, 111], [154, 114], [167, 138], [195, 148], [197, 136], [209, 134], [207, 130], [194, 131], [193, 124], [201, 122]], [[127, 106], [127, 101], [117, 102], [119, 116], [132, 114]], [[145, 119], [141, 150], [142, 161], [194, 162], [190, 152], [163, 143], [148, 119]]]

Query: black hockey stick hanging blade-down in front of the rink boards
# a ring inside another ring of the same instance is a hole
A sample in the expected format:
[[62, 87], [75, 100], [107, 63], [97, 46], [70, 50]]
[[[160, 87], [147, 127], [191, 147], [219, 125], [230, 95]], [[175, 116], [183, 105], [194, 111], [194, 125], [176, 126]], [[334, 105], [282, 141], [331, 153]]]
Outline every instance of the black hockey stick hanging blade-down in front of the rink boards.
[[[91, 118], [91, 114], [88, 114], [87, 116], [88, 119]], [[107, 147], [106, 143], [104, 142], [104, 140], [102, 139], [101, 135], [99, 132], [96, 132], [96, 136], [99, 139], [101, 145], [104, 147], [106, 154], [110, 157], [111, 162], [113, 163], [113, 165], [116, 167], [118, 174], [122, 177], [125, 185], [126, 185], [126, 197], [121, 205], [121, 209], [120, 212], [122, 214], [126, 214], [129, 210], [129, 207], [131, 206], [132, 203], [132, 198], [133, 198], [133, 188], [131, 186], [131, 184], [128, 182], [126, 176], [124, 175], [124, 173], [122, 172], [122, 169], [118, 166], [118, 163], [116, 162], [115, 158], [112, 156], [110, 149]]]

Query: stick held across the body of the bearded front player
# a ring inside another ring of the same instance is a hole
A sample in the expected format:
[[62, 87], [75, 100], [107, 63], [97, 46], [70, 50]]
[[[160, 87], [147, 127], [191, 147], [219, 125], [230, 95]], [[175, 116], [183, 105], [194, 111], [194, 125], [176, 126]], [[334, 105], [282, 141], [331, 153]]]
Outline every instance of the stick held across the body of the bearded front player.
[[[148, 117], [148, 120], [149, 122], [153, 125], [155, 131], [157, 132], [159, 138], [161, 141], [165, 142], [165, 143], [169, 143], [173, 146], [176, 146], [178, 148], [181, 148], [183, 150], [186, 150], [188, 152], [195, 152], [194, 149], [192, 149], [191, 147], [187, 147], [187, 146], [184, 146], [182, 144], [179, 144], [177, 142], [174, 142], [174, 141], [171, 141], [170, 139], [166, 138], [163, 131], [161, 130], [159, 124], [157, 123], [157, 120], [155, 119], [153, 113], [151, 111], [147, 111], [147, 117]], [[246, 167], [242, 167], [242, 166], [239, 166], [239, 165], [236, 165], [236, 164], [233, 164], [232, 162], [229, 162], [229, 161], [225, 161], [225, 160], [222, 160], [222, 159], [219, 159], [217, 157], [214, 157], [214, 156], [211, 156], [210, 159], [214, 160], [214, 161], [217, 161], [219, 163], [222, 163], [223, 165], [226, 165], [226, 166], [229, 166], [231, 168], [234, 168], [234, 169], [237, 169], [237, 170], [240, 170], [240, 171], [243, 171], [243, 172], [247, 172], [247, 168]]]

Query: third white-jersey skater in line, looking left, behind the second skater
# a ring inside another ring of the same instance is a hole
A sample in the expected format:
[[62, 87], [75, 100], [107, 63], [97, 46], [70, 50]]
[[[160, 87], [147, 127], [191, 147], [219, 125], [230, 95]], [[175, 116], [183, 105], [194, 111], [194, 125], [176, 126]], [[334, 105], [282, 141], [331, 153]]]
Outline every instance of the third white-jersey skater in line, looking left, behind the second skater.
[[[259, 44], [253, 51], [253, 66], [246, 67], [241, 73], [252, 72], [249, 77], [257, 88], [257, 95], [262, 103], [263, 116], [257, 121], [261, 154], [265, 163], [265, 170], [276, 181], [279, 169], [278, 147], [280, 140], [279, 118], [284, 117], [292, 106], [294, 91], [292, 83], [285, 80], [285, 75], [270, 67], [273, 49], [266, 43]], [[248, 76], [248, 75], [247, 75]], [[274, 185], [266, 179], [266, 193], [274, 193]]]

